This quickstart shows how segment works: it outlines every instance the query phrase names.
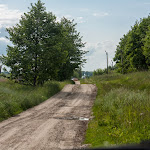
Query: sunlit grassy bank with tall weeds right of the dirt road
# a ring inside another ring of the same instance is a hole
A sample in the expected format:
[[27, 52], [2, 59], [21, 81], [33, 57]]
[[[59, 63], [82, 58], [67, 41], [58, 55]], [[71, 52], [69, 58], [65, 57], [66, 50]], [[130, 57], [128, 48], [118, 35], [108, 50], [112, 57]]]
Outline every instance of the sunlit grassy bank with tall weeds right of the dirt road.
[[150, 72], [95, 76], [82, 83], [98, 87], [85, 143], [100, 147], [150, 139]]

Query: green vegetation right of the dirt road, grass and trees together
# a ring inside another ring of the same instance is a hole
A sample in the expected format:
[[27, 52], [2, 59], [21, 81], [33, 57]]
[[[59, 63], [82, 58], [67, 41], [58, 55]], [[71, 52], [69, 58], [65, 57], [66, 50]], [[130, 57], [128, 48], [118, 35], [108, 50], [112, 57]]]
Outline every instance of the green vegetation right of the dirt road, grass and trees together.
[[150, 16], [136, 21], [120, 38], [108, 75], [107, 69], [97, 69], [82, 80], [98, 87], [85, 140], [92, 147], [150, 139], [149, 23]]

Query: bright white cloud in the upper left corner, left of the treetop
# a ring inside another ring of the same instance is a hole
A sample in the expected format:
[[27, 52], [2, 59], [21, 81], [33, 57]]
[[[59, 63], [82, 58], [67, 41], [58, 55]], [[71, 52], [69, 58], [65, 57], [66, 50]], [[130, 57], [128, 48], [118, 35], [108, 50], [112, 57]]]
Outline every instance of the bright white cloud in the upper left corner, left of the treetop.
[[22, 14], [19, 10], [12, 10], [6, 5], [0, 4], [0, 28], [14, 25]]

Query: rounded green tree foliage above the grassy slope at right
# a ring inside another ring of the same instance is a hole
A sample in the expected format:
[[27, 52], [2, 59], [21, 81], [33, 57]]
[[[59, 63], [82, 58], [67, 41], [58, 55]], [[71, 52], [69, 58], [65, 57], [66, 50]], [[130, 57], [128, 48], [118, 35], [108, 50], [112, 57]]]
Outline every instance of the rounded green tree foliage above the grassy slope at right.
[[140, 22], [136, 21], [131, 30], [120, 39], [114, 57], [118, 72], [148, 70], [150, 66], [149, 24], [150, 16], [141, 19]]

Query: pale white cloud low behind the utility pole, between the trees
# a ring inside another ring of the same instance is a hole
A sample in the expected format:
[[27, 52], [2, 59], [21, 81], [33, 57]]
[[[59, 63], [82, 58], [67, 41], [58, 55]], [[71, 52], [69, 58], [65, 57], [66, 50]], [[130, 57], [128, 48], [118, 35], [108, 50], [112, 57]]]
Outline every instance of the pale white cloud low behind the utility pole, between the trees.
[[108, 52], [109, 65], [111, 65], [111, 60], [115, 55], [117, 43], [114, 41], [102, 41], [99, 43], [88, 43], [85, 50], [89, 53], [86, 55], [87, 63], [84, 65], [83, 70], [93, 71], [98, 68], [106, 68], [106, 53]]

